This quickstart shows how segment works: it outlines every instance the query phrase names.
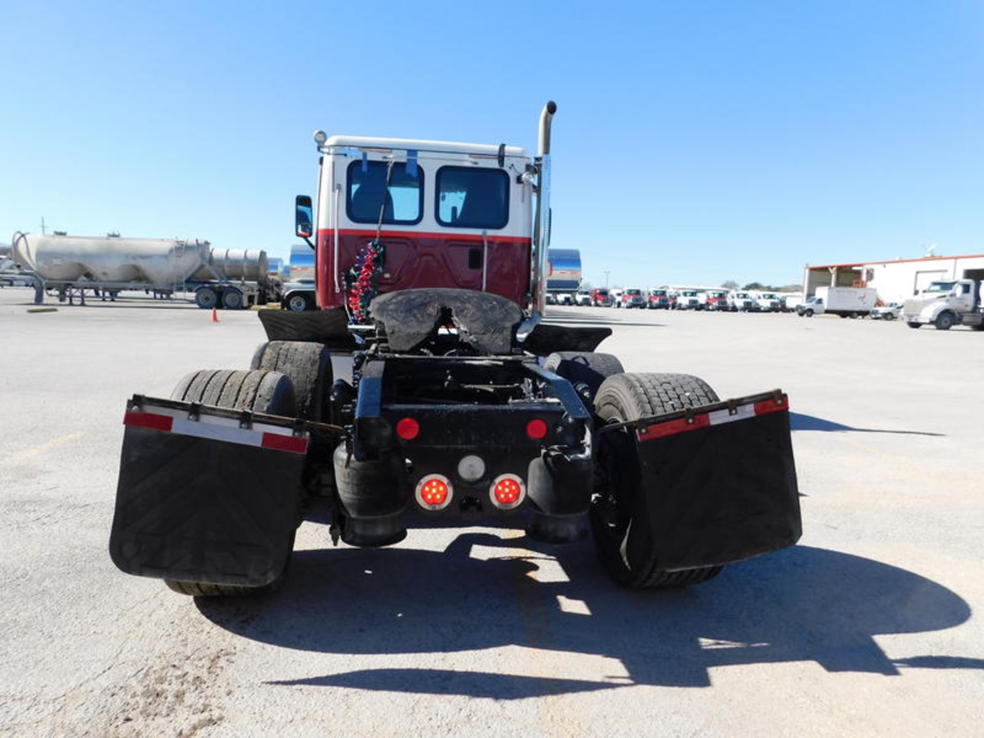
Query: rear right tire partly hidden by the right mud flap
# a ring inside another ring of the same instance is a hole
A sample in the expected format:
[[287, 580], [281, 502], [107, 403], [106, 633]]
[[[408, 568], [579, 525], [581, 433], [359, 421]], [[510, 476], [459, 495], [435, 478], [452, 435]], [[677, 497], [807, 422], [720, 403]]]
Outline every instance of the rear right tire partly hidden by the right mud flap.
[[[716, 402], [717, 395], [704, 380], [689, 374], [618, 374], [606, 379], [594, 398], [599, 425], [637, 420], [671, 410]], [[723, 567], [700, 567], [666, 572], [659, 569], [655, 547], [630, 568], [622, 546], [633, 523], [642, 488], [636, 469], [636, 447], [630, 430], [597, 436], [594, 494], [590, 523], [594, 549], [601, 565], [619, 584], [636, 588], [667, 589], [700, 584], [716, 577]], [[606, 439], [607, 436], [615, 438]]]

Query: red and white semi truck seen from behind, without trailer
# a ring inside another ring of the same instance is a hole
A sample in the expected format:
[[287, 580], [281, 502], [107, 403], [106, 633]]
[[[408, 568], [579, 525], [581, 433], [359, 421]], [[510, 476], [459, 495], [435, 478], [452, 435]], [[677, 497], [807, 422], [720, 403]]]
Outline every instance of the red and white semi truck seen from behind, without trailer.
[[335, 544], [589, 535], [632, 587], [703, 583], [799, 539], [781, 391], [720, 400], [695, 376], [625, 372], [595, 350], [610, 329], [541, 320], [555, 109], [535, 156], [316, 132], [320, 196], [297, 197], [296, 233], [320, 309], [260, 311], [250, 369], [127, 402], [117, 567], [192, 595], [276, 588], [313, 495]]

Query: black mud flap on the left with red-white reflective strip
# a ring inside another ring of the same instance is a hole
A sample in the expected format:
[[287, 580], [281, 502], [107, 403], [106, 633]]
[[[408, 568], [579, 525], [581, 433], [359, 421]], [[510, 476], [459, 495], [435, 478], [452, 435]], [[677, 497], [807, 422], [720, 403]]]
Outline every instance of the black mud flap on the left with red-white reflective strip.
[[298, 521], [306, 435], [286, 418], [261, 423], [259, 414], [135, 400], [109, 538], [113, 563], [181, 582], [273, 582]]

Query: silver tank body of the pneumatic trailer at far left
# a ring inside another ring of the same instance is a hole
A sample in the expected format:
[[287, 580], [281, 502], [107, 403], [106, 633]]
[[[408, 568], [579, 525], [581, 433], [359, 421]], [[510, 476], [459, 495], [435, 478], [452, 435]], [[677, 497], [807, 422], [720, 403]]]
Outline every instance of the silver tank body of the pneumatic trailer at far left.
[[15, 260], [46, 281], [146, 282], [173, 287], [209, 263], [209, 242], [197, 238], [119, 238], [14, 234]]

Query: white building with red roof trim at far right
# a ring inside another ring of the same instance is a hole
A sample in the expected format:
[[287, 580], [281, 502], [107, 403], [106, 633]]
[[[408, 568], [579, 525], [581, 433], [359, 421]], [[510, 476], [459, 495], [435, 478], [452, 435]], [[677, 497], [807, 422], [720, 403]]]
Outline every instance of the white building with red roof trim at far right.
[[804, 299], [817, 287], [874, 287], [885, 302], [901, 302], [931, 281], [984, 279], [984, 254], [929, 256], [891, 262], [857, 262], [808, 266], [803, 275]]

